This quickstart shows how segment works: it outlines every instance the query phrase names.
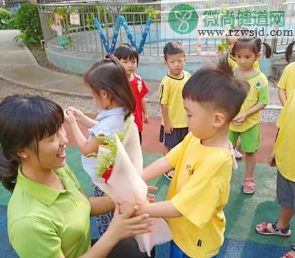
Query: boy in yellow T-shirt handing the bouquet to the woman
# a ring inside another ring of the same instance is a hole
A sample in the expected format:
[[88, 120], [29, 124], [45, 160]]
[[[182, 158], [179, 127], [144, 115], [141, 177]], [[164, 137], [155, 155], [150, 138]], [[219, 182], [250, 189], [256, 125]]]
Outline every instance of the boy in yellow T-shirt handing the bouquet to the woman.
[[[171, 258], [214, 257], [223, 244], [223, 207], [228, 202], [234, 164], [228, 127], [247, 94], [247, 83], [234, 78], [226, 60], [217, 67], [199, 69], [182, 92], [191, 132], [144, 169], [145, 181], [175, 169], [167, 200], [143, 204], [137, 211], [168, 219], [173, 237]], [[124, 205], [128, 204], [122, 204], [123, 209]]]

